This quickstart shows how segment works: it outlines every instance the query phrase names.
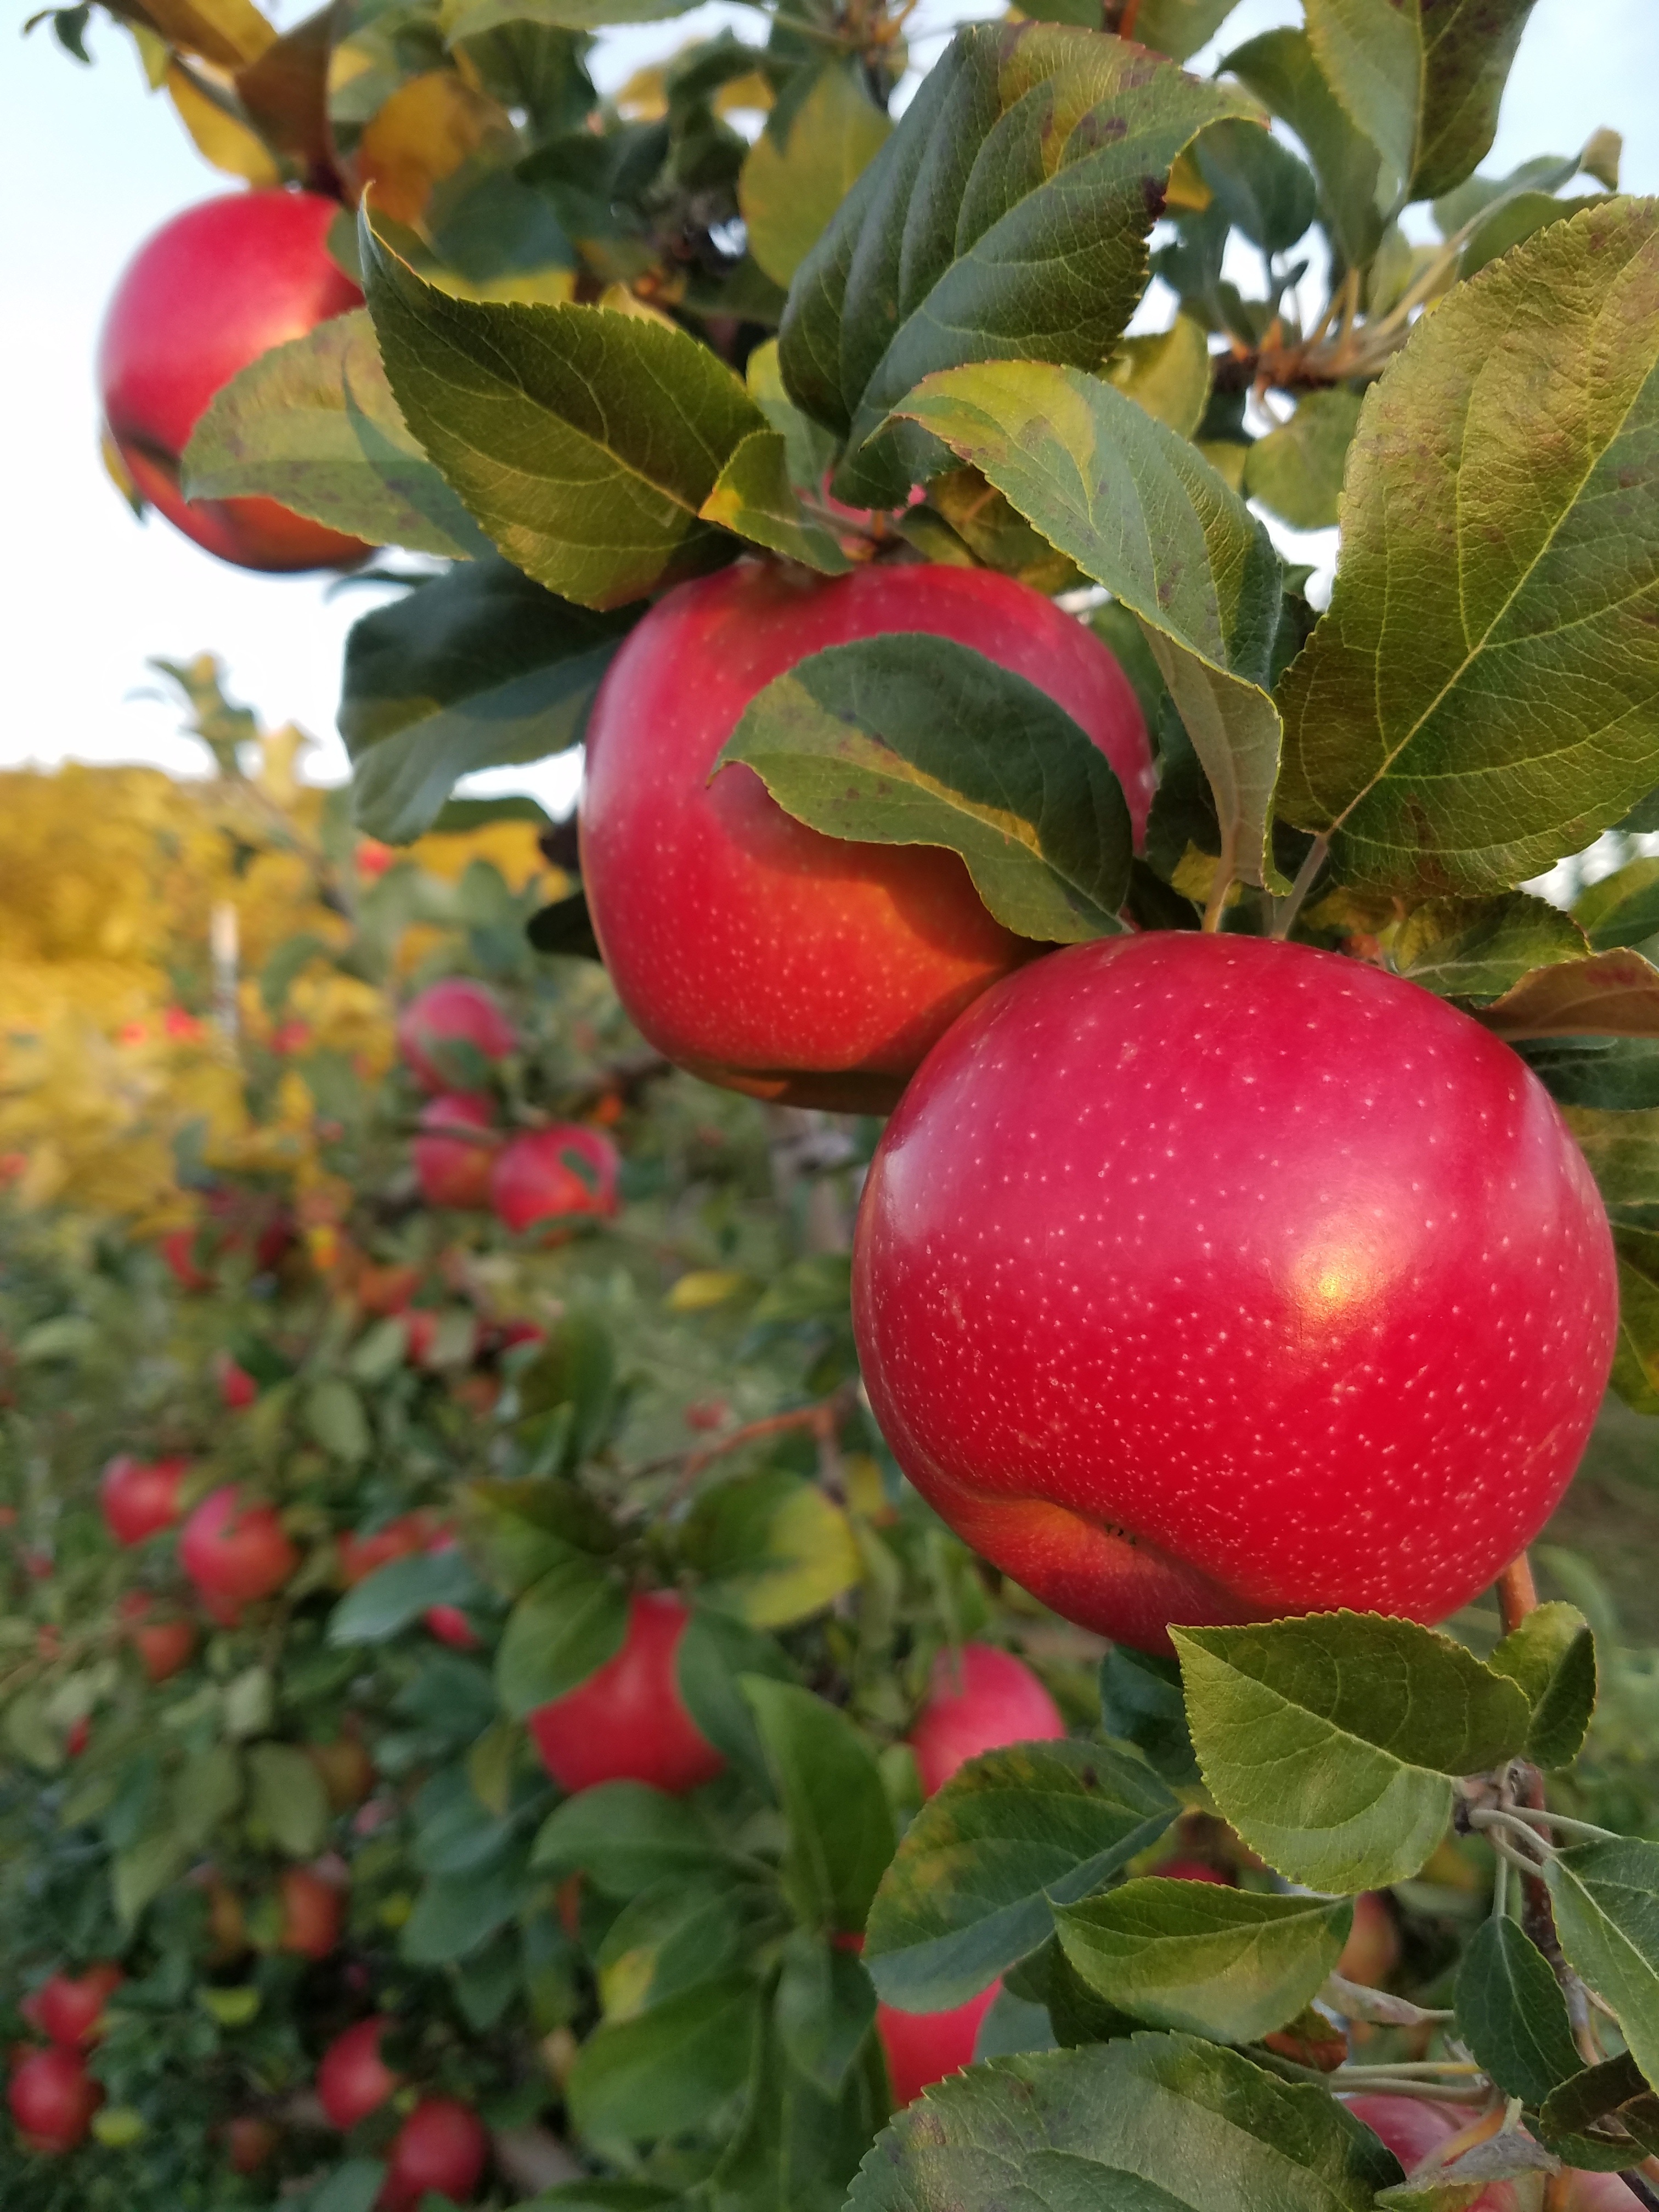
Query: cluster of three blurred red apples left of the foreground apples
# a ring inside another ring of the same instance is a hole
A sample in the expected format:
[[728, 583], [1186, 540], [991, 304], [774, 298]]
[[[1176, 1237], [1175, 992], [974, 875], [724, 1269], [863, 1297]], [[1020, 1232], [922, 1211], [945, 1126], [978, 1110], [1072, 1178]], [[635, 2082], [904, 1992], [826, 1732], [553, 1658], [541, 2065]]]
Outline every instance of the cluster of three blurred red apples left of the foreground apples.
[[487, 984], [465, 975], [429, 984], [398, 1018], [398, 1048], [416, 1082], [434, 1093], [414, 1141], [427, 1206], [489, 1206], [515, 1237], [535, 1230], [544, 1243], [557, 1243], [582, 1214], [615, 1214], [622, 1161], [604, 1130], [551, 1121], [502, 1137], [495, 1102], [482, 1091], [453, 1088], [462, 1053], [471, 1066], [478, 1060], [493, 1066], [518, 1051], [518, 1033]]

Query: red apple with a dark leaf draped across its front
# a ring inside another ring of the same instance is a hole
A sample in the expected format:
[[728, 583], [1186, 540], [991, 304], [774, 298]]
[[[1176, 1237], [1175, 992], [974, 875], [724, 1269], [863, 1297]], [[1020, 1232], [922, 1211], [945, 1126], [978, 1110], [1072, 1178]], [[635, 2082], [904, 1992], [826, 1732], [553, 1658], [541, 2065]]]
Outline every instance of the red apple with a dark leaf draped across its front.
[[880, 564], [823, 582], [745, 560], [670, 591], [593, 706], [582, 883], [633, 1020], [728, 1088], [885, 1113], [962, 1006], [1035, 949], [991, 920], [953, 852], [821, 836], [743, 765], [708, 781], [772, 677], [889, 630], [956, 639], [1042, 686], [1146, 823], [1152, 759], [1128, 677], [1011, 577]]

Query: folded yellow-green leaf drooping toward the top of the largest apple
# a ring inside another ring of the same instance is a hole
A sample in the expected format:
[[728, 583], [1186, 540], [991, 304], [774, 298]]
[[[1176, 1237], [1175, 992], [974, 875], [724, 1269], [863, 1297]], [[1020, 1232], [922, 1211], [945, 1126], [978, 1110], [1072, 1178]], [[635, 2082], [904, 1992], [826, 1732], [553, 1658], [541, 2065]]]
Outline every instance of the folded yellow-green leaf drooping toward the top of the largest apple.
[[1265, 524], [1186, 438], [1077, 369], [956, 369], [905, 414], [1139, 617], [1217, 796], [1228, 874], [1272, 878], [1281, 562]]

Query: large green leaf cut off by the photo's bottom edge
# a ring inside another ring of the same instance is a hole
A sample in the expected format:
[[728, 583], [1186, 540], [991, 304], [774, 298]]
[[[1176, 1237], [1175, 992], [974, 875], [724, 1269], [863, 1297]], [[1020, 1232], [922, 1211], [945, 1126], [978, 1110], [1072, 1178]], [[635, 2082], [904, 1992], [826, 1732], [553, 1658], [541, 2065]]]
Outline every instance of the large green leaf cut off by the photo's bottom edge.
[[1135, 2035], [940, 2081], [878, 2137], [847, 2212], [1371, 2212], [1398, 2179], [1323, 2088]]

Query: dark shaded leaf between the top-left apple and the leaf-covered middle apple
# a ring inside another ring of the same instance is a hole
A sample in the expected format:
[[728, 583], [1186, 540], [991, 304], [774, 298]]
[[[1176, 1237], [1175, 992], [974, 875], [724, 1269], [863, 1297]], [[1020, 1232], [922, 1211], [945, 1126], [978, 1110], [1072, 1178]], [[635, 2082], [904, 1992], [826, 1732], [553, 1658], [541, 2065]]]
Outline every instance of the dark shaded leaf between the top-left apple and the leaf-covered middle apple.
[[575, 745], [630, 622], [555, 599], [493, 553], [365, 615], [338, 712], [356, 818], [407, 845], [460, 776]]

